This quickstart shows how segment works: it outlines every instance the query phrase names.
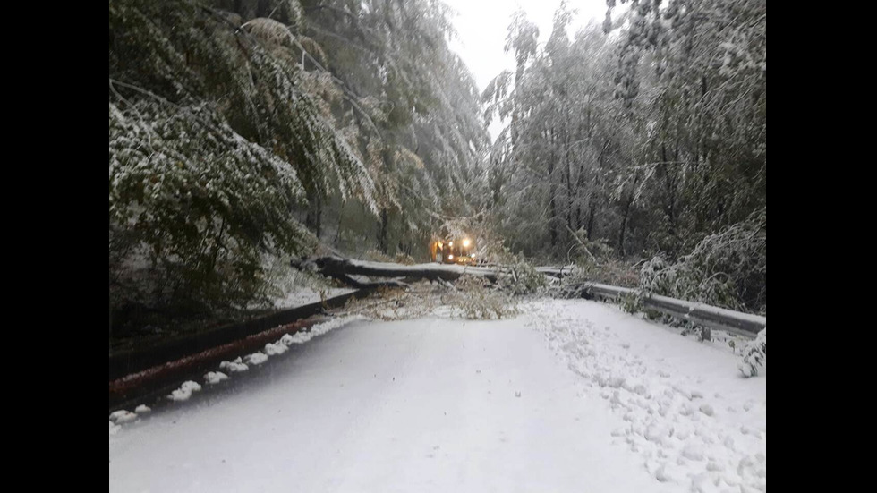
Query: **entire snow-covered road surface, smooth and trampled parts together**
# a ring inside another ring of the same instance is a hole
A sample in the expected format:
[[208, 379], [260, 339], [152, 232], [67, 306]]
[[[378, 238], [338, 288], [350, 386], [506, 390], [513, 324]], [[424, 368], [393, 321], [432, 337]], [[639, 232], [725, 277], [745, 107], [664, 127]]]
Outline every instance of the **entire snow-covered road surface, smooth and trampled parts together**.
[[582, 300], [357, 321], [124, 424], [109, 489], [764, 489], [765, 378], [736, 362]]

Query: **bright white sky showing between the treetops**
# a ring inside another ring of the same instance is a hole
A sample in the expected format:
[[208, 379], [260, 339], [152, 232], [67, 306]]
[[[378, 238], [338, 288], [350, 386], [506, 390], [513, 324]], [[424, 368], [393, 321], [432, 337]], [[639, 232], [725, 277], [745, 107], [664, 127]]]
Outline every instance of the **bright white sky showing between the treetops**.
[[[515, 58], [503, 51], [508, 24], [512, 14], [523, 8], [527, 18], [539, 27], [539, 42], [544, 44], [551, 35], [554, 12], [561, 0], [442, 0], [456, 11], [452, 16], [457, 37], [450, 47], [473, 72], [479, 91], [503, 70], [515, 69]], [[571, 22], [573, 32], [594, 19], [602, 22], [606, 16], [606, 0], [569, 0], [575, 15]], [[490, 125], [490, 136], [496, 138], [500, 127]]]

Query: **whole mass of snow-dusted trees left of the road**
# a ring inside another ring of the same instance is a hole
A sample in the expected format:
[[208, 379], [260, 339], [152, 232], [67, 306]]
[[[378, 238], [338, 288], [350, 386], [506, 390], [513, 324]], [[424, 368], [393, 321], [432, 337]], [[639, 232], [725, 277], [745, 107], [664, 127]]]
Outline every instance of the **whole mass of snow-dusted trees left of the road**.
[[486, 131], [449, 32], [432, 0], [112, 2], [116, 325], [255, 306], [333, 204], [336, 241], [351, 202], [353, 244], [389, 255], [467, 213]]

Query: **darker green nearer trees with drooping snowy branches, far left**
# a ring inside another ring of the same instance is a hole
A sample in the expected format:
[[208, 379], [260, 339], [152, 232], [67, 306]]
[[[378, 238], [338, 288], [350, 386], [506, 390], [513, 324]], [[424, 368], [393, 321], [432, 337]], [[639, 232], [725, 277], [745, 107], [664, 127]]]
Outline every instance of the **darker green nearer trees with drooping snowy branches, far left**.
[[[297, 12], [280, 4], [287, 19]], [[296, 209], [339, 193], [377, 211], [369, 170], [320, 115], [319, 94], [299, 88], [285, 25], [242, 26], [187, 0], [119, 0], [109, 38], [117, 308], [242, 307], [262, 291], [263, 255], [316, 244]]]

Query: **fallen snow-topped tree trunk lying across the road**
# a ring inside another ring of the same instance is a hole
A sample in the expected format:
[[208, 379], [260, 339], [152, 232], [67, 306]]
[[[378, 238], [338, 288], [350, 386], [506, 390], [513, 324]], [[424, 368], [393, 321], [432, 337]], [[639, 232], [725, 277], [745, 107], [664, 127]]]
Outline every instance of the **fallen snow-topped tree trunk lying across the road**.
[[372, 277], [404, 277], [410, 279], [428, 279], [430, 281], [454, 281], [461, 276], [481, 276], [491, 283], [497, 281], [498, 269], [472, 266], [457, 266], [446, 264], [416, 264], [405, 266], [388, 262], [370, 262], [365, 260], [343, 259], [336, 256], [319, 257], [293, 261], [294, 268], [308, 268], [314, 266], [323, 276], [336, 278], [337, 280], [352, 285], [353, 287], [391, 285], [401, 286], [399, 281], [384, 281], [382, 283], [362, 283], [351, 276]]

